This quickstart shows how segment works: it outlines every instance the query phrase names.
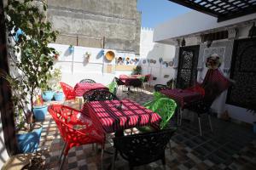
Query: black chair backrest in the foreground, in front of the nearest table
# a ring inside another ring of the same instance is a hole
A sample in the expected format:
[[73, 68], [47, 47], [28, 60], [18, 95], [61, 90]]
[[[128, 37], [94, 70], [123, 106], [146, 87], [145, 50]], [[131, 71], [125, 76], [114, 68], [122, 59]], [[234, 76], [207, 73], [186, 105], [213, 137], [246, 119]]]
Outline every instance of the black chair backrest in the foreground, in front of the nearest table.
[[148, 164], [165, 156], [166, 144], [175, 131], [176, 129], [172, 128], [116, 137], [113, 139], [113, 145], [131, 166]]

